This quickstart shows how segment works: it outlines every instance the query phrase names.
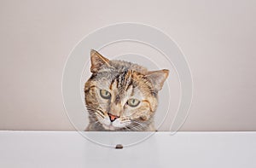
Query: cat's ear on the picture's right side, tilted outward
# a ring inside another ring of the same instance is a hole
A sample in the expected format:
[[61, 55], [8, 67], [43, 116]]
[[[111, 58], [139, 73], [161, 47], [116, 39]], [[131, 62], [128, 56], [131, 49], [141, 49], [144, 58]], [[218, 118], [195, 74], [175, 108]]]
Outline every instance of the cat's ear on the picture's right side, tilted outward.
[[151, 83], [154, 85], [154, 89], [159, 91], [162, 89], [168, 75], [169, 70], [163, 69], [160, 71], [150, 71], [146, 77], [150, 79]]

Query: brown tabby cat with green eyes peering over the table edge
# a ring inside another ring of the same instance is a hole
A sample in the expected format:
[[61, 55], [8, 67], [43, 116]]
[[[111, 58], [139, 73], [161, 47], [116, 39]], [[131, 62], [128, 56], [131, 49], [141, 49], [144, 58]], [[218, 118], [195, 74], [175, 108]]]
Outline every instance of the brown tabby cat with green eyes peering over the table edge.
[[128, 61], [108, 60], [90, 51], [90, 78], [84, 97], [90, 123], [86, 130], [155, 131], [158, 92], [169, 70], [148, 71]]

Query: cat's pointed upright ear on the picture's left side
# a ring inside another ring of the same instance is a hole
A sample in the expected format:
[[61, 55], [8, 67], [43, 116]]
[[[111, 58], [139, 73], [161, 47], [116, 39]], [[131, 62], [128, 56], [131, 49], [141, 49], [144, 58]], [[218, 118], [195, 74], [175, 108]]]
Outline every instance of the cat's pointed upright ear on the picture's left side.
[[94, 49], [90, 50], [90, 63], [90, 72], [92, 73], [98, 72], [104, 64], [107, 64], [109, 66], [108, 58], [105, 58]]

